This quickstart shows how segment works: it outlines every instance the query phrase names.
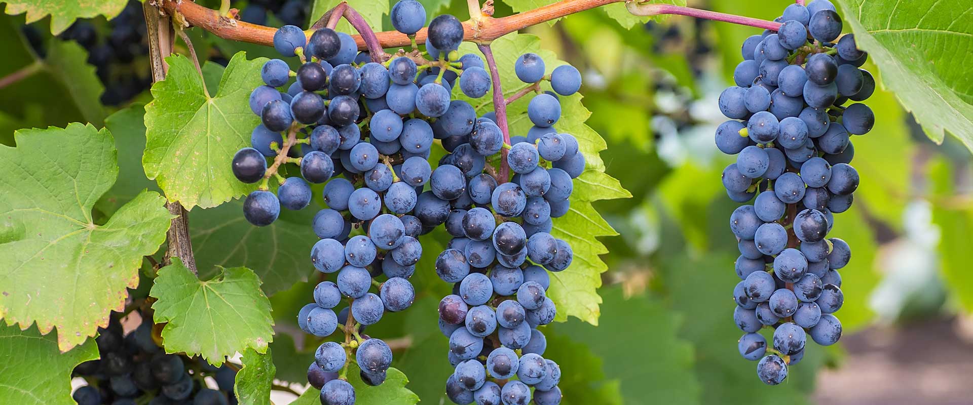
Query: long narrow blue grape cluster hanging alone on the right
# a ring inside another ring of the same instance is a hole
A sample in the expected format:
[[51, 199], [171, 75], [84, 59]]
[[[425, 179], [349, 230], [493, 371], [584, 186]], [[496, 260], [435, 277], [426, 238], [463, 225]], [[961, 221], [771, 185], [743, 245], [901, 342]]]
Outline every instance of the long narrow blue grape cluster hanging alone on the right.
[[[875, 122], [865, 104], [846, 105], [867, 99], [875, 81], [859, 69], [868, 56], [853, 34], [841, 35], [834, 5], [792, 4], [778, 20], [776, 33], [744, 41], [737, 85], [719, 98], [734, 120], [716, 130], [719, 150], [737, 154], [723, 171], [727, 193], [739, 203], [753, 200], [730, 218], [742, 280], [734, 321], [745, 332], [739, 353], [760, 360], [757, 376], [768, 385], [783, 382], [787, 367], [803, 358], [807, 335], [822, 346], [841, 338], [832, 314], [845, 300], [838, 270], [851, 251], [826, 235], [858, 187], [849, 136], [868, 133]], [[764, 326], [774, 328], [773, 347], [757, 333]]]

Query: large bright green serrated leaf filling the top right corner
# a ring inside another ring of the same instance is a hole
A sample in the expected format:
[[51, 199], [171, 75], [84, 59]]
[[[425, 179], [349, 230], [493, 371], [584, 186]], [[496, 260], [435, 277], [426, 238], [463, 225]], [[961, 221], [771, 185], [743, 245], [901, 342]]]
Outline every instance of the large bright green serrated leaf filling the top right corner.
[[944, 133], [973, 151], [973, 18], [967, 2], [838, 0], [858, 48], [882, 71], [883, 86], [911, 111], [926, 135]]

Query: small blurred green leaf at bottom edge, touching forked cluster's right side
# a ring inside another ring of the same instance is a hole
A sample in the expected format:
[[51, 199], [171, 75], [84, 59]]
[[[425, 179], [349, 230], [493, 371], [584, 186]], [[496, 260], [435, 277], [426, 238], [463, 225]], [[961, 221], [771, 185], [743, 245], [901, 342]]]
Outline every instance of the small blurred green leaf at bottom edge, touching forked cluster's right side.
[[567, 335], [556, 333], [558, 327], [542, 330], [547, 341], [544, 358], [554, 360], [560, 366], [560, 388], [564, 405], [603, 404], [622, 405], [621, 385], [618, 380], [607, 380], [601, 357], [592, 353], [585, 344]]

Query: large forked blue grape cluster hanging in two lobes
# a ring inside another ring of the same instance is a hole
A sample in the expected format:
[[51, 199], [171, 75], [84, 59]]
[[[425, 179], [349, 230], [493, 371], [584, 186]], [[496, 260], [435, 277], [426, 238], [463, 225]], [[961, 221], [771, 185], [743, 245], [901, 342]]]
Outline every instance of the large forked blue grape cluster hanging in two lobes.
[[[426, 22], [416, 0], [399, 1], [390, 17], [413, 39]], [[447, 385], [450, 398], [499, 404], [502, 395], [505, 404], [525, 404], [533, 387], [535, 403], [556, 405], [559, 368], [541, 357], [544, 336], [535, 328], [556, 313], [545, 296], [547, 271], [564, 270], [572, 259], [570, 246], [549, 232], [552, 218], [568, 211], [572, 179], [584, 171], [585, 158], [577, 140], [553, 125], [560, 118], [559, 96], [575, 93], [581, 75], [565, 65], [546, 76], [540, 56], [523, 54], [516, 72], [537, 85], [527, 109], [535, 126], [505, 141], [494, 113], [478, 118], [472, 105], [451, 97], [457, 85], [471, 98], [484, 97], [492, 86], [480, 56], [458, 56], [459, 20], [435, 17], [428, 32], [424, 52], [400, 50], [379, 62], [367, 52], [356, 54], [346, 34], [323, 28], [307, 38], [297, 26], [281, 27], [274, 48], [283, 56], [299, 55], [303, 63], [292, 72], [283, 60], [271, 59], [261, 71], [266, 85], [251, 93], [250, 107], [261, 124], [251, 148], [235, 153], [233, 172], [259, 186], [244, 200], [243, 215], [254, 225], [269, 225], [281, 207], [309, 205], [311, 184], [325, 184], [328, 208], [311, 223], [320, 240], [310, 258], [319, 272], [337, 278], [318, 284], [314, 302], [298, 314], [300, 327], [314, 336], [345, 332], [342, 343], [320, 345], [307, 371], [308, 382], [321, 389], [322, 404], [355, 402], [345, 374], [352, 361], [366, 384], [385, 380], [390, 348], [360, 333], [386, 311], [412, 305], [410, 278], [422, 254], [418, 238], [445, 223], [454, 238], [436, 271], [456, 290], [444, 300], [440, 322], [456, 366]], [[540, 91], [544, 81], [554, 91]], [[434, 143], [447, 152], [435, 168], [429, 160]], [[277, 173], [292, 163], [300, 176]], [[494, 167], [500, 163], [506, 167]], [[507, 170], [513, 175], [503, 177]], [[275, 193], [271, 178], [279, 183]], [[342, 299], [349, 305], [336, 315]], [[454, 305], [446, 305], [449, 299]], [[486, 381], [487, 369], [496, 382]], [[514, 376], [519, 380], [504, 384]]]

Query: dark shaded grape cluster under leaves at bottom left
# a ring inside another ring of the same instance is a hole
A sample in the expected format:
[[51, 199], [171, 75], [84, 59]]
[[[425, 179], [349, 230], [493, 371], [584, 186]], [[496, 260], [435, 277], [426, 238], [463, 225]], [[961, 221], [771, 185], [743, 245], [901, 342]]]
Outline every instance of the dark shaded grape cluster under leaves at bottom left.
[[[153, 338], [152, 318], [127, 334], [113, 314], [108, 327], [98, 328], [95, 343], [99, 359], [79, 364], [75, 377], [88, 385], [74, 391], [79, 405], [230, 405], [234, 396], [234, 369], [216, 368], [204, 360], [165, 354]], [[212, 377], [219, 389], [207, 388]]]

